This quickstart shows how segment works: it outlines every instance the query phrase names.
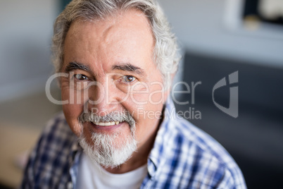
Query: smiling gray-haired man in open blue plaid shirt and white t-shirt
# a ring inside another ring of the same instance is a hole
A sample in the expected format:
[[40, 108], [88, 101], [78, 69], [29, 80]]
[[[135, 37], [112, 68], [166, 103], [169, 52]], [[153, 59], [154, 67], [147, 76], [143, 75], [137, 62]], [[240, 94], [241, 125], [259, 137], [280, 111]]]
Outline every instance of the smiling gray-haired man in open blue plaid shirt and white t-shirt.
[[63, 114], [22, 188], [246, 188], [232, 157], [175, 116], [175, 37], [153, 0], [74, 0], [58, 16]]

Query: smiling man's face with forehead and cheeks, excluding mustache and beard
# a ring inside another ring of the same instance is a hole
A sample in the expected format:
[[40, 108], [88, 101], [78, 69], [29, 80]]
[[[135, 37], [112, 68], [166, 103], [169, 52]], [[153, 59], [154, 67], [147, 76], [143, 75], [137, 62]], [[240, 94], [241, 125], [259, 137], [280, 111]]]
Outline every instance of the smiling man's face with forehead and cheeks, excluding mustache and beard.
[[78, 118], [85, 110], [98, 116], [129, 111], [136, 122], [138, 151], [150, 150], [167, 97], [153, 49], [149, 20], [139, 11], [72, 23], [65, 38], [62, 70], [70, 77], [61, 78], [61, 90], [62, 99], [69, 102], [63, 105], [65, 118], [76, 135], [84, 133], [91, 145], [92, 133], [120, 133], [115, 139], [118, 147], [131, 135], [129, 123], [99, 126], [80, 123]]

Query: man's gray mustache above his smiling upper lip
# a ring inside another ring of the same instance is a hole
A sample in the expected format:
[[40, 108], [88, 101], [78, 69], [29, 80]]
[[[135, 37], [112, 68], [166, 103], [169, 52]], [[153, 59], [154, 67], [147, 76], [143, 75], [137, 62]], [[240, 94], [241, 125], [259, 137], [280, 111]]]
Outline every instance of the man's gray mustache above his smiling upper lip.
[[134, 126], [135, 121], [134, 118], [132, 117], [132, 115], [130, 114], [129, 111], [113, 111], [109, 114], [107, 114], [106, 116], [98, 116], [96, 114], [94, 114], [93, 112], [83, 112], [80, 117], [78, 118], [78, 120], [81, 123], [85, 123], [85, 122], [92, 122], [92, 123], [96, 123], [96, 122], [115, 122], [115, 121], [119, 121], [119, 122], [124, 122], [126, 121], [127, 123], [130, 124], [130, 126]]

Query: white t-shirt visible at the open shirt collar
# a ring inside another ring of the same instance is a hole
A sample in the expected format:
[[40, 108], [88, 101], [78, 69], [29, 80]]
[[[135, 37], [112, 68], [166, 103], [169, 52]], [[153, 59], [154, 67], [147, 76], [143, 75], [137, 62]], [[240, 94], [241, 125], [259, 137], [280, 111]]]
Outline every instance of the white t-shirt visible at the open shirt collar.
[[146, 173], [147, 165], [141, 166], [138, 169], [127, 173], [109, 173], [83, 153], [75, 188], [139, 188], [146, 177]]

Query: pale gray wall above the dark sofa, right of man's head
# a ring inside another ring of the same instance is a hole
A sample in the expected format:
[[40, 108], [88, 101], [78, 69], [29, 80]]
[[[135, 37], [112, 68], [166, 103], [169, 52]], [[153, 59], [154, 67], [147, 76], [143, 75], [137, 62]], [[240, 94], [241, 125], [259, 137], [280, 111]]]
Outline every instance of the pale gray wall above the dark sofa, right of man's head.
[[227, 1], [236, 0], [159, 0], [184, 49], [283, 68], [283, 28], [281, 39], [228, 30]]

